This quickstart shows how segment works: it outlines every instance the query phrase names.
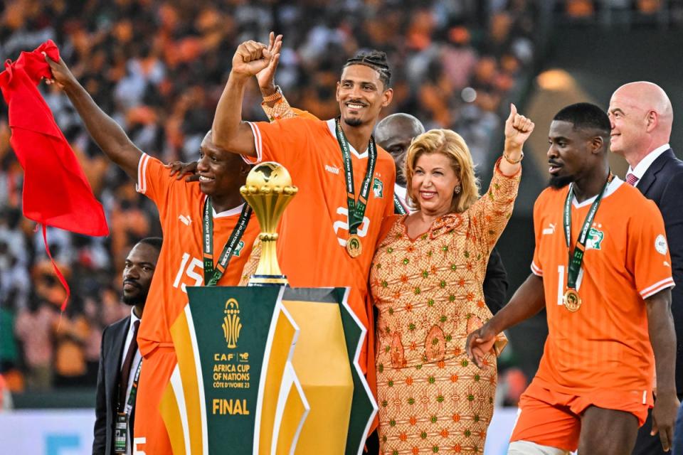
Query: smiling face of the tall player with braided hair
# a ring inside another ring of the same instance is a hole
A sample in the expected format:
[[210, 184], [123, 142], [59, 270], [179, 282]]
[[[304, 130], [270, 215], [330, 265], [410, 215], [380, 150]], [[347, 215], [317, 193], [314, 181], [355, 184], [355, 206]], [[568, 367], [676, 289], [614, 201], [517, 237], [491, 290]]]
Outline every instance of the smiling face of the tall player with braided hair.
[[379, 112], [391, 102], [393, 91], [386, 89], [373, 68], [349, 65], [337, 82], [337, 102], [342, 121], [349, 127], [374, 124]]

